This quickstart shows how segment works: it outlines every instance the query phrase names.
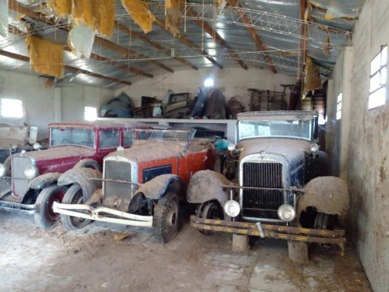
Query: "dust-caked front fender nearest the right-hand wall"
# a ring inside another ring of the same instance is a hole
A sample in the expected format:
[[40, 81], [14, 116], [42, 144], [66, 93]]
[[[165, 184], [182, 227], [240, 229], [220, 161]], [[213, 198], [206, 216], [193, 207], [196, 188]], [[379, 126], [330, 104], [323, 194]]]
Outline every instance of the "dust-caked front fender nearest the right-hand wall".
[[326, 214], [344, 215], [349, 204], [346, 181], [334, 176], [317, 177], [306, 184], [304, 194], [298, 202], [297, 215], [299, 217], [307, 207], [315, 207]]

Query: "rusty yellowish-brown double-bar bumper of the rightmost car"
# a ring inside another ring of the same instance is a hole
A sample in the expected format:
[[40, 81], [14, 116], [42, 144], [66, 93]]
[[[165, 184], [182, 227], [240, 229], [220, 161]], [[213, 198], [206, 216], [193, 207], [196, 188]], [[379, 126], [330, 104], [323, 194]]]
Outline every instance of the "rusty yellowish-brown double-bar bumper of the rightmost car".
[[320, 244], [336, 244], [342, 249], [346, 242], [344, 230], [319, 230], [270, 224], [211, 220], [201, 219], [195, 216], [191, 216], [191, 225], [199, 230], [220, 231]]

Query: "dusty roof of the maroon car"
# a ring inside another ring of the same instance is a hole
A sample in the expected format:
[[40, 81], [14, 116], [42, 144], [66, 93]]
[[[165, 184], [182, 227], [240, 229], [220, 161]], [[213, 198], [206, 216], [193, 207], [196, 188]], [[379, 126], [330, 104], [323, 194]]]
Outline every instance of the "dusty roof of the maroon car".
[[120, 127], [120, 128], [150, 128], [147, 124], [131, 121], [115, 121], [112, 119], [107, 120], [95, 120], [95, 121], [84, 121], [84, 120], [73, 120], [73, 121], [64, 121], [57, 123], [50, 123], [49, 128], [111, 128], [111, 127]]

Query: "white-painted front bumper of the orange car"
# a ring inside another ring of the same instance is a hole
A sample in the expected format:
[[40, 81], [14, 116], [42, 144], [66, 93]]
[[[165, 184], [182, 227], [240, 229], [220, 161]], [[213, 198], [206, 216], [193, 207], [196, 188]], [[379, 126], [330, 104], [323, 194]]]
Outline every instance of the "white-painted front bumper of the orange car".
[[95, 221], [131, 226], [153, 227], [153, 216], [129, 214], [106, 207], [93, 208], [85, 204], [61, 204], [54, 202], [53, 211], [63, 215]]

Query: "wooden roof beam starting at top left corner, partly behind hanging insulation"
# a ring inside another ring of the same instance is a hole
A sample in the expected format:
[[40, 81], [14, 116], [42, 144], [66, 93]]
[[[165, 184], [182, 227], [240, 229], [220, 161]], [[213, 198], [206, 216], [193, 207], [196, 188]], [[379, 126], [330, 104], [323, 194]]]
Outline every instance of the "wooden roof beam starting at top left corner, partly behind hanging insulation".
[[[15, 11], [18, 11], [22, 14], [25, 14], [29, 17], [31, 17], [32, 19], [36, 20], [36, 21], [41, 21], [41, 22], [45, 22], [45, 23], [48, 23], [50, 25], [58, 25], [58, 24], [63, 24], [63, 23], [55, 23], [54, 21], [48, 19], [48, 18], [44, 18], [44, 15], [41, 14], [41, 13], [37, 13], [35, 11], [32, 11], [30, 9], [28, 9], [27, 7], [21, 5], [20, 3], [18, 3], [17, 1], [15, 0], [8, 0], [8, 7], [12, 10], [15, 10]], [[60, 26], [58, 27], [59, 29], [62, 29], [62, 30], [65, 30], [67, 32], [69, 32], [70, 30], [70, 26]], [[109, 49], [112, 49], [112, 50], [115, 50], [119, 53], [121, 53], [123, 56], [128, 56], [132, 53], [136, 53], [135, 51], [132, 51], [130, 49], [127, 49], [127, 48], [123, 48], [119, 45], [117, 45], [116, 43], [112, 42], [112, 41], [109, 41], [105, 38], [102, 38], [100, 36], [95, 36], [95, 43], [99, 43]], [[143, 56], [142, 55], [142, 58], [144, 59], [148, 59], [148, 57], [146, 56]], [[150, 62], [151, 64], [155, 65], [155, 66], [158, 66], [170, 73], [173, 73], [174, 70], [172, 68], [169, 68], [168, 66], [165, 66], [163, 63], [161, 62], [158, 62], [156, 60], [147, 60], [148, 62]], [[142, 75], [142, 74], [140, 74]]]

